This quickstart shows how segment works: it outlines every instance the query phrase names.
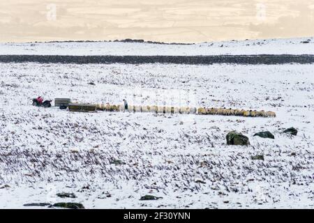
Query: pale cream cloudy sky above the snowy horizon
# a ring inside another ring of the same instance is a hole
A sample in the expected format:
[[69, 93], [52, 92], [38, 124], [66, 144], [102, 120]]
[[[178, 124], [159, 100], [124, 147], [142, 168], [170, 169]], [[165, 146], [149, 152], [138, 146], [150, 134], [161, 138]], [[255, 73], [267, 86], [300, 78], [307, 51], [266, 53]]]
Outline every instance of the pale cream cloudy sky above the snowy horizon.
[[314, 36], [314, 0], [1, 0], [0, 42]]

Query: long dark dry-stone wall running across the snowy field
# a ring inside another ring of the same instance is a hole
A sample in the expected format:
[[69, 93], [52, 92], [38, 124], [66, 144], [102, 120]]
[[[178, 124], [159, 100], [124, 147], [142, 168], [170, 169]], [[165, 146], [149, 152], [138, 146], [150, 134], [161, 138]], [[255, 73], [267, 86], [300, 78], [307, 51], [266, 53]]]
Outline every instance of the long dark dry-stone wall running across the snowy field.
[[314, 55], [260, 54], [260, 55], [211, 55], [211, 56], [61, 56], [61, 55], [0, 55], [0, 63], [174, 63], [206, 65], [214, 63], [235, 64], [285, 64], [314, 63]]

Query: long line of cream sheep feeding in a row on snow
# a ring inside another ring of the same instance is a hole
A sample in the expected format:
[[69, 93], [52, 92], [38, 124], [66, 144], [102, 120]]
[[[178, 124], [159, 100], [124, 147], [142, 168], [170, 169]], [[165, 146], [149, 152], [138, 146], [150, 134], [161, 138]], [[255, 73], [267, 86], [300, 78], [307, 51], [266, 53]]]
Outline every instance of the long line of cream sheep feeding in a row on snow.
[[[124, 112], [123, 105], [100, 104], [96, 108], [106, 112]], [[166, 106], [133, 106], [129, 105], [127, 112], [151, 112], [156, 114], [202, 114], [202, 115], [223, 115], [223, 116], [245, 116], [245, 117], [276, 117], [275, 112], [264, 112], [244, 109], [226, 109], [226, 108], [204, 108], [200, 107], [166, 107]]]

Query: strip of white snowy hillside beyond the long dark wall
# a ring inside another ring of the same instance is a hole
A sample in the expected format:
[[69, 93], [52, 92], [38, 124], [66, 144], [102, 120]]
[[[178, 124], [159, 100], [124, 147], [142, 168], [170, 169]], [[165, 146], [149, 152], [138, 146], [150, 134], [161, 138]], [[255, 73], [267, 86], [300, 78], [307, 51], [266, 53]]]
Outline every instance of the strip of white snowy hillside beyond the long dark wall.
[[196, 43], [194, 45], [121, 42], [0, 43], [0, 55], [4, 54], [76, 56], [314, 54], [314, 40], [313, 37], [266, 40], [233, 40]]

